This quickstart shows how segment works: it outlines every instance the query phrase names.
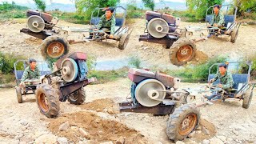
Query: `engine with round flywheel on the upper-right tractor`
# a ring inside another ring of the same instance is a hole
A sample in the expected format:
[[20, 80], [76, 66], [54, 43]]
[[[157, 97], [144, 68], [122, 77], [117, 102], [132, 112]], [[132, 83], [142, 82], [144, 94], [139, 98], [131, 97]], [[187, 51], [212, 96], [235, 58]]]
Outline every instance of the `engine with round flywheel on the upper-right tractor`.
[[146, 11], [146, 29], [150, 36], [154, 38], [163, 38], [167, 33], [173, 33], [180, 23], [180, 18], [166, 13]]

